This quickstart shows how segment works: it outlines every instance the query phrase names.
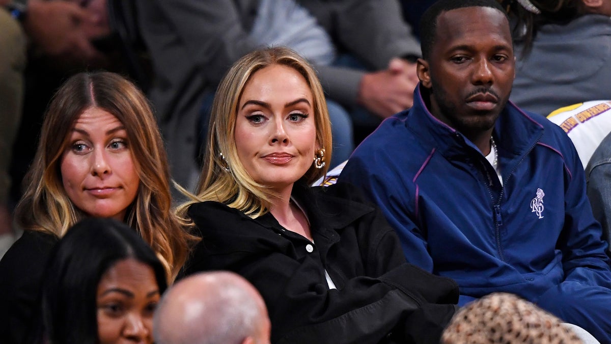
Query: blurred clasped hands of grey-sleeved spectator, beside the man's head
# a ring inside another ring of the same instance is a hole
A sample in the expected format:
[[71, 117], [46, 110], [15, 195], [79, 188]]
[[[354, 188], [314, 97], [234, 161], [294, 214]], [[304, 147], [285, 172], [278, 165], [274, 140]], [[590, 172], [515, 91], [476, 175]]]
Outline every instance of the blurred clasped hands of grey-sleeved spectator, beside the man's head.
[[416, 65], [395, 58], [388, 69], [364, 75], [358, 101], [372, 113], [387, 118], [414, 105], [417, 83]]

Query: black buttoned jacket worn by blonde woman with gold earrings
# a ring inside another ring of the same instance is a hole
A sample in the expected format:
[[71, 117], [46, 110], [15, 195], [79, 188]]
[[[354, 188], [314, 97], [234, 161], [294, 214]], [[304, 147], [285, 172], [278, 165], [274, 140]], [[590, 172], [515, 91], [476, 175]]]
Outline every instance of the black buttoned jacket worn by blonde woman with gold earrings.
[[407, 264], [381, 212], [353, 187], [296, 184], [293, 197], [315, 244], [269, 213], [253, 220], [218, 202], [193, 204], [203, 239], [186, 274], [243, 275], [265, 299], [274, 343], [439, 343], [458, 285]]

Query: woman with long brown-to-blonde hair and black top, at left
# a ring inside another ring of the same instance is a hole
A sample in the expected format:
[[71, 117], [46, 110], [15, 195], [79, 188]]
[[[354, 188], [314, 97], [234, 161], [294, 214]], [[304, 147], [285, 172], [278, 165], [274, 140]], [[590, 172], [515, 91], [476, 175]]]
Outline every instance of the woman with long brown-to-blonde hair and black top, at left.
[[171, 209], [166, 152], [141, 91], [114, 73], [79, 73], [54, 95], [16, 208], [23, 236], [0, 261], [0, 338], [20, 342], [54, 243], [85, 217], [133, 228], [173, 280], [194, 237]]

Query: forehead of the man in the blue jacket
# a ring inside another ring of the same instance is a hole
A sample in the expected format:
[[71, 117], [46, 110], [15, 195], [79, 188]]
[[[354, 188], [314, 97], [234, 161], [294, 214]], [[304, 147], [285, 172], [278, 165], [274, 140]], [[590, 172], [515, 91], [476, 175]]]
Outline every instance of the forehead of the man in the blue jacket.
[[463, 7], [442, 12], [437, 18], [435, 42], [440, 48], [482, 39], [512, 44], [509, 22], [504, 13], [492, 7]]

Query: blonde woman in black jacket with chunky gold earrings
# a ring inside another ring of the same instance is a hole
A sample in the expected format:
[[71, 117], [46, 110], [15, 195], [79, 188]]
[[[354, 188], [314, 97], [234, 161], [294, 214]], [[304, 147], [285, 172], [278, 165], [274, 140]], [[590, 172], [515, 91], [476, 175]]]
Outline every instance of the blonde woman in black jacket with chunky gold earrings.
[[227, 269], [263, 296], [273, 343], [437, 342], [452, 280], [406, 264], [357, 190], [324, 175], [331, 128], [312, 67], [287, 48], [247, 54], [214, 99], [196, 201], [202, 233], [186, 273]]

